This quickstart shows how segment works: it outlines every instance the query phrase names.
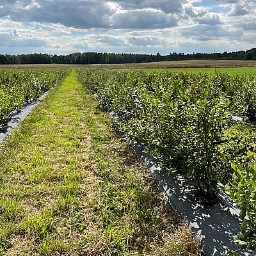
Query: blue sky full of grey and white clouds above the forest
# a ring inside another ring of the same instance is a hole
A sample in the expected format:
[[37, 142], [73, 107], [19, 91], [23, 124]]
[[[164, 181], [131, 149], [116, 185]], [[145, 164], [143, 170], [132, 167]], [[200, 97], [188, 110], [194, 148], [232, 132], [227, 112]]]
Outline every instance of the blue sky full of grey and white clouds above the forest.
[[256, 47], [256, 0], [0, 0], [0, 54]]

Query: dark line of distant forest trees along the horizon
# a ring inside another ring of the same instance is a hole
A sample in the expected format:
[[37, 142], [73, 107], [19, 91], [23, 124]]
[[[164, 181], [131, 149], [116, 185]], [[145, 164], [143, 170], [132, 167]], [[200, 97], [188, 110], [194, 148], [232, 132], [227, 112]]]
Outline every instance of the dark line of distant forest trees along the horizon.
[[172, 52], [169, 55], [76, 52], [68, 55], [51, 54], [0, 54], [0, 64], [120, 64], [174, 60], [256, 60], [256, 48], [248, 51], [223, 53], [184, 54]]

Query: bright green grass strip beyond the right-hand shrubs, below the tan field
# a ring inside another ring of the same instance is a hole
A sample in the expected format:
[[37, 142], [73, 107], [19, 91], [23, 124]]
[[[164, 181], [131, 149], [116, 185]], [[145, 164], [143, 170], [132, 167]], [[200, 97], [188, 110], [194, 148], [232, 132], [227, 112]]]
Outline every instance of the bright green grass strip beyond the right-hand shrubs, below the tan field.
[[208, 73], [214, 74], [214, 72], [218, 71], [221, 73], [228, 74], [240, 74], [246, 76], [256, 75], [256, 67], [234, 67], [234, 68], [135, 68], [136, 70], [144, 70], [147, 72], [188, 72], [192, 74], [200, 73]]

